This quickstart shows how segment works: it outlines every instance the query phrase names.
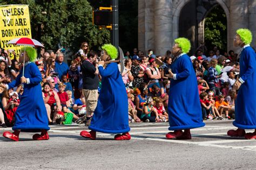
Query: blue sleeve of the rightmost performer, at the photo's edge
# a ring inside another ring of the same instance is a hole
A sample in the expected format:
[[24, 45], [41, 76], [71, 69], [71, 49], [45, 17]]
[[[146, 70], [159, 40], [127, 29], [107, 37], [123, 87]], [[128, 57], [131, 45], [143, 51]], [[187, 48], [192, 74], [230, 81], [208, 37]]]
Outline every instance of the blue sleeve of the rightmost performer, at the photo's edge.
[[255, 70], [255, 52], [252, 49], [246, 51], [245, 63], [246, 63], [247, 68], [246, 68], [245, 73], [243, 75], [241, 75], [241, 79], [243, 81], [246, 81], [248, 79], [248, 77], [250, 77]]

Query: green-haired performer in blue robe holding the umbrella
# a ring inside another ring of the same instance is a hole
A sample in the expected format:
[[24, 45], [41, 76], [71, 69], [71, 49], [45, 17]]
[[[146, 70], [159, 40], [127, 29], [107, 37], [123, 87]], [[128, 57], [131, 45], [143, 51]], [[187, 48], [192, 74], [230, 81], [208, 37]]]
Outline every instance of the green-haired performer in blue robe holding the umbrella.
[[12, 127], [14, 132], [4, 132], [3, 137], [5, 138], [18, 141], [19, 132], [21, 132], [21, 130], [41, 130], [41, 134], [33, 135], [33, 140], [49, 139], [47, 131], [50, 130], [50, 128], [48, 126], [48, 117], [40, 84], [42, 76], [36, 64], [33, 63], [36, 58], [36, 49], [32, 47], [25, 47], [24, 51], [23, 47], [21, 49], [21, 54], [19, 54], [19, 62], [23, 63], [25, 60], [24, 76], [22, 76], [21, 70], [16, 80], [6, 84], [5, 86], [6, 89], [14, 88], [21, 83], [24, 86], [21, 103], [15, 113], [15, 124]]

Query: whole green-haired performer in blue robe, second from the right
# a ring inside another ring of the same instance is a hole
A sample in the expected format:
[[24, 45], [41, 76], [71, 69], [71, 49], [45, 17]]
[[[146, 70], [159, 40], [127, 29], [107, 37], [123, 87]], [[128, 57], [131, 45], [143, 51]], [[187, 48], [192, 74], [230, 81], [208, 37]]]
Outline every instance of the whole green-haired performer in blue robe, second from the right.
[[[197, 77], [194, 73], [190, 57], [190, 41], [186, 38], [174, 40], [172, 54], [177, 56], [171, 65], [169, 76], [169, 132], [167, 139], [191, 139], [190, 129], [205, 126], [199, 100]], [[184, 130], [184, 132], [183, 132]]]

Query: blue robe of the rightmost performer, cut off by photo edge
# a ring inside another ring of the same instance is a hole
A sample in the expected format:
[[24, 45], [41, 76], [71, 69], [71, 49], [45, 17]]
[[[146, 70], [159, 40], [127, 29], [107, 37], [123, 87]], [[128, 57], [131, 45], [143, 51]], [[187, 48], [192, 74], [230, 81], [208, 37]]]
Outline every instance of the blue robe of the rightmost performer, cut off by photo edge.
[[240, 129], [256, 129], [256, 62], [252, 47], [245, 47], [240, 56], [241, 84], [235, 100], [234, 126]]

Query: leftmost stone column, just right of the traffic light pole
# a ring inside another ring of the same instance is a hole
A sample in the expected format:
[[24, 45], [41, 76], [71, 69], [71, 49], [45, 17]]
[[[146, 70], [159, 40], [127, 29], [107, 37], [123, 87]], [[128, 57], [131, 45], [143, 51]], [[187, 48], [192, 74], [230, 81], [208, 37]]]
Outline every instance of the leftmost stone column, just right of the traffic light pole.
[[154, 49], [154, 0], [138, 0], [138, 48]]

